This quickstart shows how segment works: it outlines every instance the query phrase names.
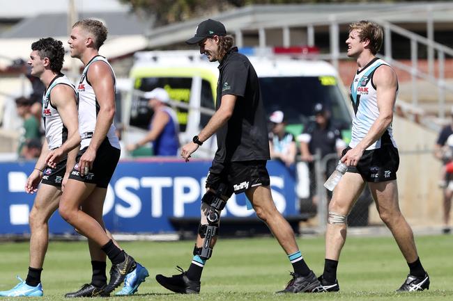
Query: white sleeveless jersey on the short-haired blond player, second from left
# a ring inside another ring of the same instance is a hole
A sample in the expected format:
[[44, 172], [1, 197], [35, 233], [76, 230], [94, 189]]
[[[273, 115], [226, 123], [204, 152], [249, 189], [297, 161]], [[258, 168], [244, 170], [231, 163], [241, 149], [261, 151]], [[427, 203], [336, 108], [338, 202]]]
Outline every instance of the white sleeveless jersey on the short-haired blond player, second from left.
[[[107, 58], [103, 56], [95, 56], [89, 61], [88, 64], [86, 64], [84, 72], [82, 72], [82, 77], [79, 81], [79, 86], [77, 86], [77, 92], [79, 92], [79, 133], [80, 138], [82, 138], [80, 149], [84, 149], [85, 147], [89, 146], [91, 138], [93, 138], [96, 126], [96, 118], [98, 117], [98, 112], [100, 109], [98, 99], [96, 99], [93, 87], [87, 79], [88, 69], [90, 65], [98, 60], [102, 60], [107, 65], [109, 65], [110, 69], [112, 70], [112, 75], [114, 76], [114, 87], [116, 87], [115, 73], [112, 66], [107, 61]], [[109, 131], [107, 132], [106, 138], [109, 140], [109, 143], [110, 145], [112, 145], [112, 147], [121, 149], [113, 123], [110, 126]]]

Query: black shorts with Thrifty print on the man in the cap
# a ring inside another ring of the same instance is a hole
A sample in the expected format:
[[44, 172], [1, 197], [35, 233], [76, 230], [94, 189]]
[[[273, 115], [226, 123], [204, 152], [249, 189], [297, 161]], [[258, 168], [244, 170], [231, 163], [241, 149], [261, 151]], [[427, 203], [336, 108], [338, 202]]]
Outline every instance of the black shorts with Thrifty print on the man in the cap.
[[206, 179], [206, 188], [217, 190], [220, 184], [225, 184], [227, 191], [224, 195], [231, 197], [233, 193], [243, 193], [254, 186], [269, 186], [266, 162], [266, 160], [227, 163], [213, 161]]

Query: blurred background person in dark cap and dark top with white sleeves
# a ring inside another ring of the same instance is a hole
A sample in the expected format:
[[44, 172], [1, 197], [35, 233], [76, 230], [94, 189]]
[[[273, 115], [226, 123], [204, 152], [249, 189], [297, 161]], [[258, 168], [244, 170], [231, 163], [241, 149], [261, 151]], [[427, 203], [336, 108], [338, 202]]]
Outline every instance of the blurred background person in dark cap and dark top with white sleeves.
[[341, 151], [346, 147], [346, 143], [341, 139], [341, 131], [330, 120], [330, 112], [321, 103], [314, 106], [314, 122], [309, 122], [304, 127], [304, 131], [298, 136], [300, 142], [300, 152], [302, 161], [309, 163], [309, 174], [311, 183], [312, 201], [317, 204], [318, 200], [314, 197], [316, 191], [316, 170], [314, 170], [314, 154], [319, 149], [321, 159], [328, 154], [337, 154], [337, 157], [328, 160], [325, 166], [325, 175], [331, 174], [335, 170]]

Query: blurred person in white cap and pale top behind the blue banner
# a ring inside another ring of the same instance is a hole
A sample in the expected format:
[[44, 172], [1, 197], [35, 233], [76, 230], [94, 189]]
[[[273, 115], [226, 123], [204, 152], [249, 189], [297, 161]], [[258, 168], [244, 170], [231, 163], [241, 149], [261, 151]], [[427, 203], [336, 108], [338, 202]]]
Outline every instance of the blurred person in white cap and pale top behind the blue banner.
[[287, 167], [293, 165], [295, 161], [295, 139], [293, 134], [285, 131], [284, 113], [275, 111], [270, 114], [272, 129], [269, 133], [270, 158], [282, 161]]

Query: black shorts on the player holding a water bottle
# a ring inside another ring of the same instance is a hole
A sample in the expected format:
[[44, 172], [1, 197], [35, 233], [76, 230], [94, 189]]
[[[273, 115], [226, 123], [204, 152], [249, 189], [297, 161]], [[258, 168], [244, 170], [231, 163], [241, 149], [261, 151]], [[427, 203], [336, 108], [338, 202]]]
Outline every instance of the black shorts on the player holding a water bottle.
[[[343, 150], [344, 156], [351, 147]], [[355, 172], [367, 182], [384, 182], [397, 179], [399, 167], [398, 149], [393, 145], [382, 145], [381, 148], [366, 150], [357, 166], [348, 166], [348, 172]]]

